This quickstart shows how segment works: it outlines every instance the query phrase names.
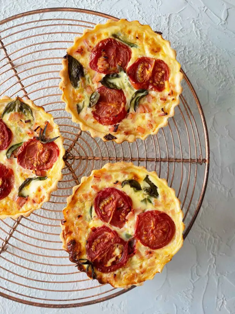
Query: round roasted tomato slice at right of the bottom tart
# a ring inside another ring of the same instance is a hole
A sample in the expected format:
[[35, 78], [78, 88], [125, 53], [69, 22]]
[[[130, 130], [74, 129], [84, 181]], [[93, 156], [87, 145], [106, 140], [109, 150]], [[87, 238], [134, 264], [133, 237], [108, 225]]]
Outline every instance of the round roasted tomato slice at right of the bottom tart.
[[175, 235], [174, 221], [163, 212], [149, 210], [137, 216], [135, 236], [152, 250], [166, 246]]

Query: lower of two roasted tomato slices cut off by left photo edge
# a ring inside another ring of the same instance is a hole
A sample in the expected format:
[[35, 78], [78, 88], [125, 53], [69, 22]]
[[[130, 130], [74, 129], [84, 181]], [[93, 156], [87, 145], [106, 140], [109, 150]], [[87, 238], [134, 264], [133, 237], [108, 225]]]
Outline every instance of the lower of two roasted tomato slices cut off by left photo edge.
[[8, 196], [14, 185], [12, 169], [0, 164], [0, 200]]

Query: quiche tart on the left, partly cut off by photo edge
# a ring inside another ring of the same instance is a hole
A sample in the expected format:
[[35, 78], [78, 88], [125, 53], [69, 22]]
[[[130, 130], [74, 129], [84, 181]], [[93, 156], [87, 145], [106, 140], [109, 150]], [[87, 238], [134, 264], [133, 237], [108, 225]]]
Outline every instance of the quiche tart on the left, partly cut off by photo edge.
[[0, 100], [0, 218], [29, 216], [50, 199], [64, 167], [52, 115], [31, 100]]

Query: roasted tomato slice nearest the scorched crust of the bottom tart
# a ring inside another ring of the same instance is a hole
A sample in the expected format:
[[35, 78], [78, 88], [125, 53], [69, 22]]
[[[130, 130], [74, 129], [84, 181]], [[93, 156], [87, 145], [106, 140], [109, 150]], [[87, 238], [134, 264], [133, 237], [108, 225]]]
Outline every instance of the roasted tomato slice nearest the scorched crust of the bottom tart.
[[107, 226], [97, 228], [88, 238], [86, 255], [102, 273], [110, 273], [123, 267], [128, 260], [128, 242]]

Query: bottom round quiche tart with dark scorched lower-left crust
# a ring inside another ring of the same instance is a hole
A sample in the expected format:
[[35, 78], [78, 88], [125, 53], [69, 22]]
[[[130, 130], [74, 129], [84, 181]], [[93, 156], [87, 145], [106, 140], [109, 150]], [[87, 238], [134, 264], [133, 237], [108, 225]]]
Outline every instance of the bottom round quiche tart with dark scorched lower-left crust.
[[183, 244], [175, 191], [132, 163], [106, 164], [83, 177], [63, 214], [63, 249], [101, 284], [128, 288], [153, 279]]

